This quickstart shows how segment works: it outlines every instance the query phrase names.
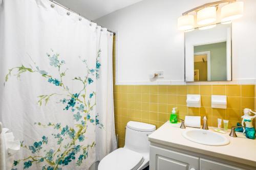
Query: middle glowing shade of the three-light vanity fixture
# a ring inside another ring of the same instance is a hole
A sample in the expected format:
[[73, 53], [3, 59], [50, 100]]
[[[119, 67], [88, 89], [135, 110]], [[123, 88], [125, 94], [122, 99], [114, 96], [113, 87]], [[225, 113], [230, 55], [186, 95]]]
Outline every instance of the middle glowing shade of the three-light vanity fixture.
[[215, 22], [216, 18], [216, 7], [207, 7], [197, 12], [197, 24], [200, 26]]

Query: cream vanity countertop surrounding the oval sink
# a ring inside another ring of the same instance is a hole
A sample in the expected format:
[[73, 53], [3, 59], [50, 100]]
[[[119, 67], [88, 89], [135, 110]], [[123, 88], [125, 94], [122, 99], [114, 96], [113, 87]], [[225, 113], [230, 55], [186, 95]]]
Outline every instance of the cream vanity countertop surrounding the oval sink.
[[230, 137], [229, 132], [222, 134], [213, 131], [213, 127], [209, 127], [210, 131], [225, 135], [230, 140], [230, 143], [223, 146], [203, 145], [189, 141], [182, 136], [182, 132], [189, 129], [191, 130], [198, 128], [186, 127], [186, 129], [180, 129], [180, 124], [170, 124], [169, 122], [166, 122], [154, 133], [148, 136], [148, 140], [153, 143], [159, 143], [169, 147], [183, 149], [190, 152], [204, 154], [256, 167], [256, 139], [247, 139], [240, 132], [237, 132], [238, 137]]

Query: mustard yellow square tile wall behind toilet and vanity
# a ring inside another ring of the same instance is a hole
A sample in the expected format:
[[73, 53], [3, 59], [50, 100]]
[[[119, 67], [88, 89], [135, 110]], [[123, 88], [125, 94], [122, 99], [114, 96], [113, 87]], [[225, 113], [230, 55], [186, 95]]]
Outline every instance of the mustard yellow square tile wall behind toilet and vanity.
[[[115, 44], [113, 61], [115, 82]], [[187, 107], [187, 94], [201, 94], [201, 108]], [[211, 108], [214, 94], [227, 95], [227, 109]], [[169, 120], [174, 107], [182, 119], [185, 115], [206, 115], [208, 126], [217, 127], [218, 118], [228, 119], [229, 128], [235, 126], [241, 123], [244, 108], [255, 111], [256, 85], [115, 85], [114, 107], [118, 147], [123, 147], [127, 122], [144, 122], [158, 128]]]

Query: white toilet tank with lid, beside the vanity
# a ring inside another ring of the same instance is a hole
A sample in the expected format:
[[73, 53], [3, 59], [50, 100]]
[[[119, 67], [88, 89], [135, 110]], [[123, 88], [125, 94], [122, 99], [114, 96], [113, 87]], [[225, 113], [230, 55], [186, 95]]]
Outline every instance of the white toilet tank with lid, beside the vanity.
[[139, 153], [150, 152], [150, 142], [148, 135], [156, 130], [155, 125], [145, 124], [141, 122], [130, 121], [127, 123], [125, 132], [124, 148]]

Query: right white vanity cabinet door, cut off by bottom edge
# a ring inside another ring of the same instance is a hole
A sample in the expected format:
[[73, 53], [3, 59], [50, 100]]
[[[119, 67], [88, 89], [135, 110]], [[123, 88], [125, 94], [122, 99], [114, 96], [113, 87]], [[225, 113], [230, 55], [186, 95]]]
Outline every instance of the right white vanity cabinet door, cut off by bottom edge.
[[200, 158], [200, 170], [243, 170], [239, 167]]

